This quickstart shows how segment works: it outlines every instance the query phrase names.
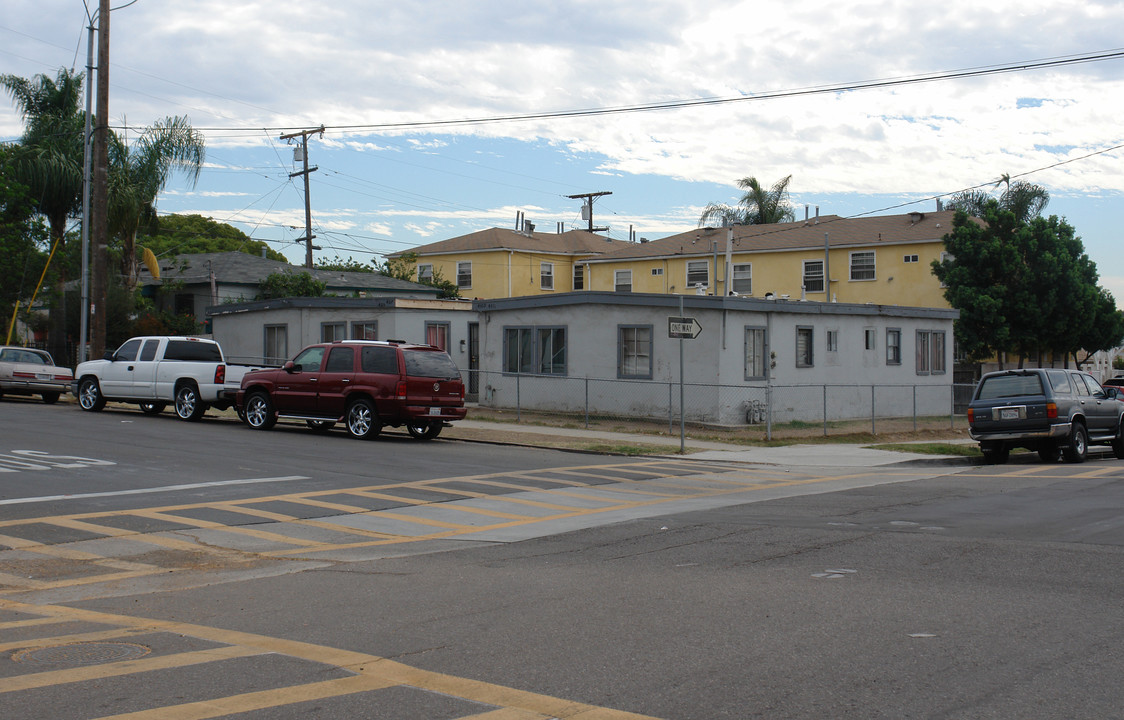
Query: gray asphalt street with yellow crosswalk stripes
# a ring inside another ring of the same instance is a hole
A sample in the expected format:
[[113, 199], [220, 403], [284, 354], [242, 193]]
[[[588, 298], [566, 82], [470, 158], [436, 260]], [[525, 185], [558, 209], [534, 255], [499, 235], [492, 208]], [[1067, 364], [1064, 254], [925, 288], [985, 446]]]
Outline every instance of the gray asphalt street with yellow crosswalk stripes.
[[6, 719], [1108, 718], [1124, 699], [1114, 459], [808, 468], [33, 403], [0, 421]]

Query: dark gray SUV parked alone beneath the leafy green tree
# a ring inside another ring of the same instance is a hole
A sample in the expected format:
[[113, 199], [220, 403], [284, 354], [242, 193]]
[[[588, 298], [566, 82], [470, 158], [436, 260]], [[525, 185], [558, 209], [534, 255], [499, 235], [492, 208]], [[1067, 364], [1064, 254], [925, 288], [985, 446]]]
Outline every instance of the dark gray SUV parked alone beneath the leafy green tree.
[[1080, 463], [1089, 445], [1111, 445], [1124, 459], [1122, 397], [1076, 370], [988, 373], [968, 405], [969, 435], [987, 463], [1006, 463], [1015, 447], [1036, 450], [1048, 463]]

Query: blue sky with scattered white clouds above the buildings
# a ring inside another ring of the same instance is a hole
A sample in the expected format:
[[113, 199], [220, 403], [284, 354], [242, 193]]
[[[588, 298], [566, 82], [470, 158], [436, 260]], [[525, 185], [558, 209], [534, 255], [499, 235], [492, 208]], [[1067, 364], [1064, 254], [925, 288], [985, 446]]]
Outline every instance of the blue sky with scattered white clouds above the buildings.
[[[593, 203], [610, 237], [656, 239], [736, 203], [745, 176], [791, 175], [803, 218], [935, 209], [1007, 174], [1050, 192], [1045, 215], [1076, 228], [1124, 308], [1124, 56], [1022, 69], [1120, 53], [1124, 2], [707, 6], [117, 0], [110, 124], [135, 137], [185, 116], [207, 163], [193, 184], [173, 176], [158, 211], [228, 222], [297, 264], [303, 181], [281, 136], [321, 126], [316, 261], [381, 262], [520, 212], [584, 228], [566, 197], [581, 193], [611, 193]], [[4, 10], [0, 73], [85, 69], [80, 0]], [[878, 81], [895, 82], [863, 86]], [[653, 108], [691, 101], [707, 102]], [[21, 130], [0, 100], [0, 142]]]

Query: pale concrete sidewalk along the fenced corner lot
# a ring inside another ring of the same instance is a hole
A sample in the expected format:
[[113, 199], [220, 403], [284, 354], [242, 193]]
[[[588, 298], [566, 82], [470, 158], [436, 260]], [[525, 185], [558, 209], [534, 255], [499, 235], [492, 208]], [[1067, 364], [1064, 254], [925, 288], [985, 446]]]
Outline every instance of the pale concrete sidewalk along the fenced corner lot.
[[[459, 432], [460, 430], [460, 432]], [[613, 432], [607, 430], [588, 430], [581, 428], [556, 428], [537, 425], [516, 425], [506, 422], [487, 422], [481, 420], [460, 420], [452, 428], [446, 428], [443, 437], [451, 439], [465, 439], [488, 441], [488, 431], [516, 436], [516, 443], [520, 445], [535, 446], [535, 436], [565, 437], [583, 439], [592, 443], [604, 443], [607, 445], [655, 445], [671, 448], [670, 452], [678, 453], [680, 446], [679, 437], [640, 435], [631, 432]], [[525, 438], [522, 443], [519, 439]], [[510, 441], [510, 440], [506, 440]], [[968, 443], [962, 438], [948, 440], [949, 443]], [[685, 443], [686, 455], [689, 459], [699, 461], [725, 461], [733, 463], [758, 463], [765, 465], [794, 465], [804, 467], [873, 467], [880, 465], [895, 465], [899, 463], [910, 464], [941, 464], [941, 465], [970, 465], [977, 461], [960, 455], [931, 455], [923, 453], [900, 453], [892, 450], [879, 450], [858, 444], [825, 443], [825, 444], [800, 444], [781, 447], [746, 447], [744, 445], [729, 445], [725, 443], [714, 443], [709, 440], [696, 440], [687, 438]]]

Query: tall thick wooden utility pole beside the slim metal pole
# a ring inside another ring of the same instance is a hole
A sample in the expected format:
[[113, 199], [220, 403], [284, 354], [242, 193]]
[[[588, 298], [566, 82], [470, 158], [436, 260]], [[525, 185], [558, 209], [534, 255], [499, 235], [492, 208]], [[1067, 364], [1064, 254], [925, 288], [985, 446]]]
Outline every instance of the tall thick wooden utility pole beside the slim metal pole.
[[[89, 79], [87, 79], [89, 82]], [[93, 129], [93, 197], [90, 229], [93, 235], [90, 356], [106, 352], [106, 311], [109, 285], [109, 0], [98, 3], [98, 109]]]

